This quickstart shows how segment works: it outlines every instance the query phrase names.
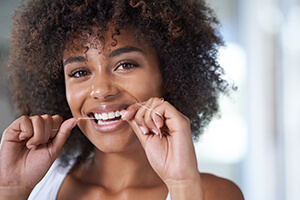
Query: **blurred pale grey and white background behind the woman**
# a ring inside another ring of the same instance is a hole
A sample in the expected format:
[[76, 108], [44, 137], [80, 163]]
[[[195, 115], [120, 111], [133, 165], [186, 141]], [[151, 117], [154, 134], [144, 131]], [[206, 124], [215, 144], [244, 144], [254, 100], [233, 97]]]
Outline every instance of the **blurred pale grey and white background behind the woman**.
[[[7, 90], [13, 9], [0, 2], [0, 133], [14, 120]], [[222, 26], [220, 63], [238, 86], [195, 143], [199, 170], [233, 180], [247, 200], [300, 198], [300, 0], [207, 0]]]

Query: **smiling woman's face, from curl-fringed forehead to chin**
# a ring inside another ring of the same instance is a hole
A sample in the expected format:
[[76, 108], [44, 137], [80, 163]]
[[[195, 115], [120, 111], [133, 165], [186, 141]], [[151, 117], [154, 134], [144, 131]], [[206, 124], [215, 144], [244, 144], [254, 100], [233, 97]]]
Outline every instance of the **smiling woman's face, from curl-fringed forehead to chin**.
[[90, 118], [79, 120], [78, 126], [98, 149], [124, 151], [139, 141], [119, 112], [130, 104], [161, 97], [162, 76], [154, 49], [136, 42], [130, 29], [115, 36], [115, 46], [111, 32], [104, 39], [105, 44], [91, 38], [93, 45], [87, 51], [64, 51], [67, 101], [75, 118]]

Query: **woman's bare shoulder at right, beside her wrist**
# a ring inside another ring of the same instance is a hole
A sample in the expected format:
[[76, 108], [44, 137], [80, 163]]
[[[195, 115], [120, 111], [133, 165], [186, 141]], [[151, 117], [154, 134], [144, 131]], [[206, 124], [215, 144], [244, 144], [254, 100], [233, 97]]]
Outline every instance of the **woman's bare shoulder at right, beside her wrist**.
[[205, 199], [243, 200], [240, 188], [232, 181], [212, 174], [201, 173]]

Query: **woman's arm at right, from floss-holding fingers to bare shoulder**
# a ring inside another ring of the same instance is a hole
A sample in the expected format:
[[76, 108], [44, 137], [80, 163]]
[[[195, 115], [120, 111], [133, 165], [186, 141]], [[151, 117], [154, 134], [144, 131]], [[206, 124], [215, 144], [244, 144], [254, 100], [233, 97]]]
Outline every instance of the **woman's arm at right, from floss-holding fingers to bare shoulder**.
[[[136, 104], [128, 107], [122, 119], [135, 131], [172, 200], [243, 199], [232, 182], [198, 172], [187, 117], [158, 98], [149, 99], [145, 105], [148, 109]], [[162, 131], [165, 133], [160, 137]]]

